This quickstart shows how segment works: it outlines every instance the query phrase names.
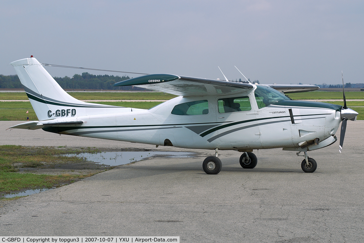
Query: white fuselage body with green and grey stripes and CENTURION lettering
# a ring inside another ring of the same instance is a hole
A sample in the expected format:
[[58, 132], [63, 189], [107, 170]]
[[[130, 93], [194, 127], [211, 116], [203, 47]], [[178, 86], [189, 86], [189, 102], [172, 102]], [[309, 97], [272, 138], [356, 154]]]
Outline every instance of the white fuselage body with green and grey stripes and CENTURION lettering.
[[[242, 94], [249, 97], [251, 105], [251, 109], [246, 111], [219, 112], [218, 100], [226, 96], [177, 97], [149, 110], [126, 111], [126, 108], [120, 107], [122, 112], [115, 108], [111, 114], [75, 117], [84, 122], [82, 125], [44, 130], [180, 148], [244, 151], [297, 148], [300, 142], [315, 138], [323, 141], [336, 133], [341, 122], [340, 111], [324, 107], [273, 104], [259, 108], [253, 92]], [[240, 95], [229, 95], [234, 96]], [[207, 114], [171, 114], [176, 105], [199, 100], [207, 100]], [[87, 109], [95, 109], [87, 112], [95, 114], [97, 109], [102, 108]], [[289, 109], [292, 109], [294, 123]]]

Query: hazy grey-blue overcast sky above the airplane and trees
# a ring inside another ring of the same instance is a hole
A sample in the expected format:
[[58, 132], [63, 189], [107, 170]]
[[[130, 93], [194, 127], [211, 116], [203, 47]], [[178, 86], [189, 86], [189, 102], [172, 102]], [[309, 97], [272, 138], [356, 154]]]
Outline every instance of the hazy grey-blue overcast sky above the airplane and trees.
[[[270, 84], [364, 83], [364, 1], [8, 1], [0, 74], [41, 63]], [[54, 77], [84, 70], [46, 67]], [[91, 74], [124, 75], [100, 71]], [[130, 77], [137, 77], [131, 75]]]

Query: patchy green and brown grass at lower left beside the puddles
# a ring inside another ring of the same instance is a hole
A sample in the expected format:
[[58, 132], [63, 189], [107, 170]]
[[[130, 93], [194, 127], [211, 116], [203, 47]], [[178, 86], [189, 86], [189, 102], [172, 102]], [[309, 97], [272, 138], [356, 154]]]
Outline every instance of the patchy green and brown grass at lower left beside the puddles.
[[[24, 167], [41, 167], [52, 163], [62, 164], [68, 161], [83, 162], [82, 158], [63, 156], [63, 154], [67, 153], [80, 152], [81, 150], [49, 147], [0, 146], [0, 195], [24, 189], [51, 188], [55, 185], [72, 183], [80, 178], [94, 175], [94, 173], [91, 173], [87, 175], [63, 174], [52, 176], [17, 173], [19, 168]], [[93, 153], [98, 152], [98, 150], [87, 148], [82, 152]]]

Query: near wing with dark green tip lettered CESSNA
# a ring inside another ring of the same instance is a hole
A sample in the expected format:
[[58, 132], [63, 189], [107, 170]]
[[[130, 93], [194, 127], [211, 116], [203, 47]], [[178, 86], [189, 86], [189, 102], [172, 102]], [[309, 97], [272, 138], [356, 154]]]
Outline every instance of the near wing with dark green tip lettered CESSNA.
[[181, 96], [236, 94], [253, 89], [248, 83], [192, 78], [172, 74], [149, 74], [115, 83], [114, 86], [137, 86]]

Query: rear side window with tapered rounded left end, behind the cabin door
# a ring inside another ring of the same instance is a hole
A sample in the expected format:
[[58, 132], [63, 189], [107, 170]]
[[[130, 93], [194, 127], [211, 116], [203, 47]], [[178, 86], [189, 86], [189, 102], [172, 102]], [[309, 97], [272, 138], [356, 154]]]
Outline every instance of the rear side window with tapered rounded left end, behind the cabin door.
[[205, 115], [209, 114], [209, 102], [207, 100], [191, 101], [176, 105], [172, 112], [173, 115]]

